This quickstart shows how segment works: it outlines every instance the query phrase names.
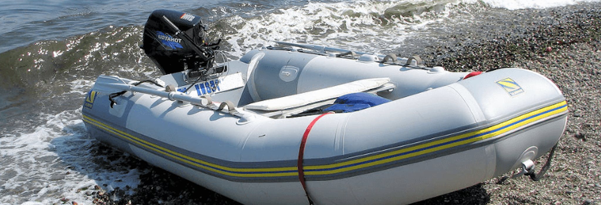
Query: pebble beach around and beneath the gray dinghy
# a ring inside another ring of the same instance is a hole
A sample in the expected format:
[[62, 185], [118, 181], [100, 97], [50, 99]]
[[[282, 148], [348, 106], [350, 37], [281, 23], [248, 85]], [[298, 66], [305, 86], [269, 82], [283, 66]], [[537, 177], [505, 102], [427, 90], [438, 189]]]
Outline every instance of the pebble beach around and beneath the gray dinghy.
[[[474, 23], [487, 32], [452, 31], [447, 41], [417, 53], [427, 64], [442, 65], [450, 71], [490, 71], [502, 67], [537, 71], [557, 83], [567, 98], [570, 112], [552, 167], [540, 181], [518, 177], [499, 184], [502, 177], [511, 176], [508, 173], [415, 204], [601, 203], [599, 5], [595, 2], [540, 11], [522, 10], [517, 16], [523, 21], [517, 26], [508, 22], [490, 28], [486, 22]], [[519, 28], [507, 29], [512, 26]], [[537, 160], [537, 170], [545, 161], [546, 156]], [[160, 168], [145, 162], [139, 164], [150, 171], [141, 174], [141, 183], [133, 189], [136, 194], [106, 193], [99, 187], [90, 192], [95, 204], [238, 204]]]

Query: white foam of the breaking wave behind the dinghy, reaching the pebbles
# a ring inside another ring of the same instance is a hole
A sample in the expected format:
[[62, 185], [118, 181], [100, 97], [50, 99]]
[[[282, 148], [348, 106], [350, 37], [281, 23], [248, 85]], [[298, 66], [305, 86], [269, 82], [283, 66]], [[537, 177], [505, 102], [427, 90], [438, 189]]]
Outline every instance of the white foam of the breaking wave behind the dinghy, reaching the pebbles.
[[[434, 23], [444, 22], [451, 13], [464, 13], [465, 4], [516, 10], [549, 8], [600, 0], [408, 0], [309, 2], [290, 8], [256, 14], [233, 15], [227, 22], [236, 32], [225, 36], [231, 56], [273, 45], [270, 41], [352, 47], [363, 52], [388, 52], [401, 48], [408, 38], [424, 38]], [[407, 8], [402, 5], [408, 4]], [[457, 7], [457, 5], [460, 5]], [[400, 8], [399, 8], [400, 7]], [[415, 11], [413, 16], [390, 16], [387, 10]], [[444, 24], [444, 23], [443, 23]]]

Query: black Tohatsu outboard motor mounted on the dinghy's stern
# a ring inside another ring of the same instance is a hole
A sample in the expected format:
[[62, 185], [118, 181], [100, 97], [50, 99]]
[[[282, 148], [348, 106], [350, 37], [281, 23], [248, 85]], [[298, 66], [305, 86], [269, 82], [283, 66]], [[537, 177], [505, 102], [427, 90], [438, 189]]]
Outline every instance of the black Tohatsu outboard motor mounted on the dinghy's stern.
[[213, 69], [213, 61], [221, 41], [209, 44], [206, 39], [200, 16], [155, 10], [144, 26], [142, 49], [163, 74], [188, 70], [188, 79], [204, 80], [217, 72]]

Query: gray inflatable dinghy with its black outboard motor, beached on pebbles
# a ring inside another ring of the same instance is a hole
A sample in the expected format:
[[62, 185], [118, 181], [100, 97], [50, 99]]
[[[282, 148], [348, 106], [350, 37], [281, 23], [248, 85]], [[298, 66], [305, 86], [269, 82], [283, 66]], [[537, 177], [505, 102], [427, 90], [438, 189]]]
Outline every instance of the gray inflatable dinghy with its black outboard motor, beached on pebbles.
[[205, 38], [200, 17], [154, 11], [142, 48], [164, 75], [98, 77], [83, 119], [99, 141], [244, 204], [407, 204], [518, 169], [538, 179], [535, 159], [566, 126], [561, 91], [529, 70], [284, 42], [215, 62]]

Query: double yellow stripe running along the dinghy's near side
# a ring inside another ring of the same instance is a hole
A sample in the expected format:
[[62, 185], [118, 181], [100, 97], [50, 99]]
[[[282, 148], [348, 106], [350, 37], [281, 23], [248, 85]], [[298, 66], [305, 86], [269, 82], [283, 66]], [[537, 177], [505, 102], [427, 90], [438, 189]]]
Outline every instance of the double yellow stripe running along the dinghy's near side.
[[[505, 122], [499, 123], [498, 125], [495, 126], [490, 126], [489, 128], [484, 128], [484, 129], [480, 129], [478, 131], [473, 131], [473, 132], [468, 132], [466, 134], [461, 134], [461, 135], [457, 135], [454, 137], [448, 137], [448, 138], [444, 138], [441, 140], [436, 140], [436, 141], [431, 141], [429, 143], [424, 143], [424, 144], [419, 144], [417, 146], [412, 146], [412, 147], [407, 147], [404, 149], [399, 149], [399, 150], [394, 150], [391, 152], [386, 152], [386, 153], [381, 153], [378, 155], [373, 155], [373, 156], [367, 156], [364, 158], [359, 158], [359, 159], [354, 159], [354, 160], [350, 160], [350, 161], [345, 161], [345, 162], [339, 162], [339, 163], [335, 163], [335, 164], [327, 164], [327, 165], [313, 165], [313, 166], [305, 166], [304, 169], [305, 170], [315, 170], [315, 169], [328, 169], [328, 168], [336, 168], [336, 167], [343, 167], [346, 165], [351, 165], [351, 164], [357, 164], [357, 163], [361, 163], [361, 162], [366, 162], [366, 161], [370, 161], [370, 160], [374, 160], [374, 159], [379, 159], [379, 158], [385, 158], [388, 156], [392, 156], [392, 155], [397, 155], [399, 153], [404, 153], [404, 152], [410, 152], [413, 150], [418, 150], [418, 149], [424, 149], [426, 147], [430, 147], [430, 146], [435, 146], [437, 144], [442, 144], [442, 143], [447, 143], [453, 140], [459, 140], [462, 138], [467, 138], [467, 137], [471, 137], [474, 135], [478, 135], [478, 134], [483, 134], [485, 132], [489, 132], [489, 131], [493, 131], [495, 129], [499, 129], [502, 128], [504, 126], [510, 125], [511, 123], [515, 123], [518, 122], [520, 120], [523, 119], [527, 119], [528, 117], [532, 117], [535, 116], [537, 114], [540, 113], [544, 113], [546, 111], [549, 110], [553, 110], [555, 108], [561, 107], [566, 105], [566, 101], [562, 101], [561, 103], [557, 103], [554, 105], [550, 105], [548, 107], [544, 107], [544, 108], [540, 108], [538, 110], [535, 111], [531, 111], [529, 113], [526, 114], [522, 114], [520, 116], [517, 116], [513, 119], [507, 120]], [[491, 132], [489, 134], [486, 135], [482, 135], [480, 137], [474, 137], [474, 138], [470, 138], [468, 140], [462, 140], [462, 141], [457, 141], [454, 143], [450, 143], [450, 144], [445, 144], [443, 146], [438, 146], [438, 147], [432, 147], [430, 149], [424, 149], [424, 150], [420, 150], [419, 152], [414, 152], [414, 153], [409, 153], [406, 155], [401, 155], [401, 156], [395, 156], [392, 158], [388, 158], [388, 159], [381, 159], [381, 160], [377, 160], [374, 162], [368, 162], [365, 164], [359, 164], [359, 165], [354, 165], [354, 166], [349, 166], [349, 167], [344, 167], [344, 168], [338, 168], [338, 169], [334, 169], [334, 170], [327, 170], [327, 171], [305, 171], [305, 174], [307, 175], [320, 175], [320, 174], [335, 174], [335, 173], [342, 173], [344, 171], [351, 171], [351, 170], [356, 170], [356, 169], [361, 169], [361, 168], [367, 168], [367, 167], [371, 167], [374, 165], [380, 165], [380, 164], [385, 164], [388, 162], [393, 162], [393, 161], [398, 161], [400, 159], [406, 159], [406, 158], [411, 158], [413, 156], [419, 156], [419, 155], [423, 155], [426, 153], [431, 153], [431, 152], [436, 152], [438, 150], [444, 150], [444, 149], [448, 149], [450, 147], [454, 147], [454, 146], [460, 146], [463, 144], [468, 144], [468, 143], [473, 143], [475, 141], [480, 141], [480, 140], [484, 140], [486, 138], [490, 138], [490, 137], [495, 137], [501, 134], [504, 134], [505, 132], [511, 131], [513, 129], [517, 129], [520, 128], [521, 126], [525, 126], [528, 125], [529, 123], [532, 122], [536, 122], [537, 120], [541, 120], [541, 119], [545, 119], [546, 117], [550, 117], [550, 116], [554, 116], [555, 114], [560, 114], [563, 113], [564, 111], [567, 111], [567, 106], [563, 107], [561, 109], [558, 110], [554, 110], [551, 111], [549, 113], [545, 113], [542, 114], [540, 116], [537, 117], [532, 117], [532, 119], [528, 119], [525, 120], [523, 122], [520, 123], [516, 123], [515, 125], [511, 125], [508, 126], [507, 128], [503, 128], [503, 129], [499, 129], [498, 131], [495, 132]], [[265, 171], [271, 171], [271, 172], [277, 172], [277, 171], [292, 171], [292, 170], [297, 170], [296, 167], [274, 167], [274, 168], [231, 168], [231, 167], [225, 167], [222, 165], [218, 165], [218, 164], [213, 164], [207, 161], [203, 161], [197, 158], [192, 158], [191, 156], [187, 156], [187, 155], [183, 155], [181, 153], [178, 152], [174, 152], [172, 150], [166, 149], [165, 147], [161, 147], [158, 146], [156, 144], [150, 143], [148, 141], [142, 140], [138, 137], [134, 137], [133, 135], [127, 134], [126, 132], [120, 131], [118, 129], [112, 128], [111, 126], [106, 125], [105, 123], [99, 122], [95, 119], [92, 119], [89, 116], [85, 116], [84, 117], [84, 121], [91, 123], [93, 125], [98, 126], [99, 128], [102, 128], [108, 132], [111, 132], [112, 134], [115, 134], [119, 137], [122, 137], [128, 141], [132, 141], [133, 143], [139, 144], [140, 146], [146, 147], [147, 149], [153, 150], [155, 152], [159, 152], [163, 155], [169, 156], [173, 159], [176, 159], [178, 161], [182, 161], [185, 162], [186, 164], [191, 164], [194, 165], [195, 167], [200, 167], [203, 168], [205, 170], [209, 170], [209, 171], [213, 171], [215, 173], [219, 173], [219, 174], [224, 174], [226, 176], [234, 176], [234, 177], [278, 177], [278, 176], [297, 176], [297, 172], [287, 172], [287, 173], [230, 173], [228, 171], [233, 171], [233, 172], [265, 172]], [[194, 163], [195, 162], [195, 163]], [[215, 167], [215, 168], [212, 168]], [[218, 169], [221, 170], [218, 170]], [[226, 170], [226, 171], [222, 171], [222, 170]]]

